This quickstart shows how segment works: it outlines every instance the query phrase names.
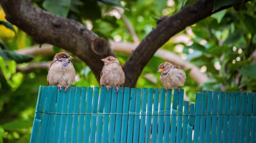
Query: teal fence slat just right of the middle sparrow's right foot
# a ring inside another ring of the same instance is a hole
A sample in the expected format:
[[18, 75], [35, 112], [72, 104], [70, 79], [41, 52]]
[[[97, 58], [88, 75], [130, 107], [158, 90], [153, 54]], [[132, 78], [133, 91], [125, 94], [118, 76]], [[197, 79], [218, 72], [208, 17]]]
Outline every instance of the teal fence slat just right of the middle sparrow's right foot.
[[[119, 88], [117, 93], [117, 114], [122, 114], [123, 110], [123, 97], [124, 97], [124, 88]], [[121, 119], [122, 115], [117, 115], [115, 123], [115, 143], [120, 142], [121, 137]]]

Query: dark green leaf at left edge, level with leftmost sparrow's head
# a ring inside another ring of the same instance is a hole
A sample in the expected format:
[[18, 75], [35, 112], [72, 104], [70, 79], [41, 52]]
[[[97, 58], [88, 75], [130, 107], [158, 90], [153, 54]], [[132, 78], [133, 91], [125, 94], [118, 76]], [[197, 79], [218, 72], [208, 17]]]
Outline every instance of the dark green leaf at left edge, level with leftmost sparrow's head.
[[18, 54], [10, 50], [0, 50], [0, 56], [2, 56], [4, 60], [14, 60], [17, 63], [29, 62], [34, 58], [33, 56]]

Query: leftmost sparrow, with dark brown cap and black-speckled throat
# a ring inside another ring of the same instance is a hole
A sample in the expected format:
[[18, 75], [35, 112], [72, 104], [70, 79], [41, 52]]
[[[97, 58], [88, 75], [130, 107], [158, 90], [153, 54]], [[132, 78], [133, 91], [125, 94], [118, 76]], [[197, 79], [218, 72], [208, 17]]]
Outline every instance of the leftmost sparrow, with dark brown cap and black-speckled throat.
[[76, 71], [70, 60], [74, 59], [66, 52], [54, 56], [47, 75], [48, 85], [58, 85], [58, 88], [65, 87], [67, 91], [70, 83], [74, 82]]

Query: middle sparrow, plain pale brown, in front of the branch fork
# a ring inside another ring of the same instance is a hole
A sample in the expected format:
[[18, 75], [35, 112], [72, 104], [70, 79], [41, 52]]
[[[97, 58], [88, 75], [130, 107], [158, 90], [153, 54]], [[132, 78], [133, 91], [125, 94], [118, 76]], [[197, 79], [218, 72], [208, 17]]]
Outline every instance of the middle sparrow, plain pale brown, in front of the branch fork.
[[124, 69], [121, 67], [117, 58], [108, 56], [101, 59], [104, 62], [104, 66], [101, 71], [100, 85], [110, 87], [116, 87], [118, 92], [119, 87], [124, 84]]

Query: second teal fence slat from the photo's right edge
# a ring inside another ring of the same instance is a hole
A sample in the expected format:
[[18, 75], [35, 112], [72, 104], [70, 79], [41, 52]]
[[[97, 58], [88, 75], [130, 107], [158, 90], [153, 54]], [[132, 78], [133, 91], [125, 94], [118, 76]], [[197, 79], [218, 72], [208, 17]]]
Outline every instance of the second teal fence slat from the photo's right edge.
[[[247, 97], [247, 115], [252, 115], [252, 93], [248, 93], [248, 97]], [[252, 122], [252, 116], [247, 116], [246, 117], [245, 143], [250, 142], [251, 127], [252, 127], [251, 122]], [[253, 128], [255, 128], [255, 126]]]

